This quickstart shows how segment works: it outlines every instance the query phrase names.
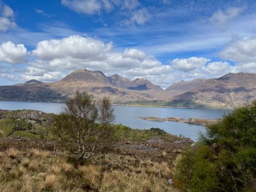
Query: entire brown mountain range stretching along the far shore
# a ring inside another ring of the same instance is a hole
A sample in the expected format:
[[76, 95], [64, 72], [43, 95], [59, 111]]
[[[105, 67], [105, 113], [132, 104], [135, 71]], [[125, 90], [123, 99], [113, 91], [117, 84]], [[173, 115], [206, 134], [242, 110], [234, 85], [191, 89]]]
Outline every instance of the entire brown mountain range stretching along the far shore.
[[256, 99], [256, 74], [228, 73], [217, 79], [180, 81], [163, 90], [146, 79], [131, 81], [117, 74], [105, 76], [101, 71], [79, 69], [57, 82], [32, 79], [0, 86], [0, 99], [64, 102], [77, 90], [96, 99], [108, 96], [115, 104], [235, 108]]

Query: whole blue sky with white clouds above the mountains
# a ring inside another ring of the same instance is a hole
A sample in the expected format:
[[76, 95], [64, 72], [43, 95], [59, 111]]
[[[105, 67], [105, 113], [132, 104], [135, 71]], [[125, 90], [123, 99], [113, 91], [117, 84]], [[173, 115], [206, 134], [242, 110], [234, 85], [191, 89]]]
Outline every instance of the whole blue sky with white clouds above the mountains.
[[0, 0], [0, 85], [81, 68], [163, 88], [256, 73], [256, 1]]

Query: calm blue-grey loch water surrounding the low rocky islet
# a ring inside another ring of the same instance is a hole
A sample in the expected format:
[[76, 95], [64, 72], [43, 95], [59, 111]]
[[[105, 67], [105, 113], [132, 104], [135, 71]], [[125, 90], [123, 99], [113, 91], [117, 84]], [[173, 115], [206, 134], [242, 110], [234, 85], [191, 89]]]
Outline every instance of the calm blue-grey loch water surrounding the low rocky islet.
[[[10, 102], [0, 101], [0, 109], [17, 110], [17, 109], [34, 109], [47, 113], [59, 113], [63, 103], [44, 103], [44, 102]], [[214, 119], [220, 118], [223, 113], [228, 113], [230, 110], [224, 109], [195, 109], [195, 108], [156, 108], [156, 107], [134, 107], [134, 106], [114, 106], [116, 115], [116, 124], [129, 126], [131, 128], [148, 129], [158, 127], [164, 129], [170, 134], [190, 137], [196, 140], [198, 132], [205, 132], [205, 128], [199, 125], [190, 125], [180, 122], [154, 122], [139, 119], [140, 116], [154, 117], [180, 117]]]

